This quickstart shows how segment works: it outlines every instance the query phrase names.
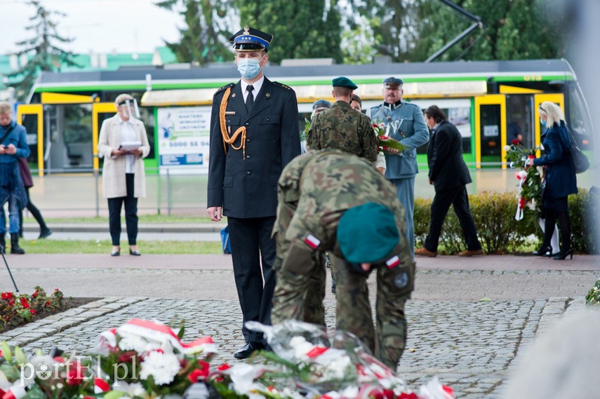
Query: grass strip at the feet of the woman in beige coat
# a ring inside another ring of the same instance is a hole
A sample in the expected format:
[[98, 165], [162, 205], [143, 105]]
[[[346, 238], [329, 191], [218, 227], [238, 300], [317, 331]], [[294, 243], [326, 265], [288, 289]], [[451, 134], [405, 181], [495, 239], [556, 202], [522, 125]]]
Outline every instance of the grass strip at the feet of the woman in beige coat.
[[[28, 254], [108, 254], [112, 249], [110, 240], [21, 240], [20, 245]], [[208, 241], [138, 241], [140, 252], [158, 254], [220, 254], [221, 243]], [[121, 253], [128, 245], [121, 244]]]

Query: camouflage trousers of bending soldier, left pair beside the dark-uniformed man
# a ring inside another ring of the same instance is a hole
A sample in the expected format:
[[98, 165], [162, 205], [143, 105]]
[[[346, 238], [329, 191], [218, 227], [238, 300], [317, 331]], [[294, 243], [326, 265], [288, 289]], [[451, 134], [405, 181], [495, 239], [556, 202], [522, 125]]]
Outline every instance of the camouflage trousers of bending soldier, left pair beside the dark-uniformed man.
[[286, 259], [286, 262], [277, 257], [273, 268], [277, 282], [271, 311], [272, 323], [294, 319], [325, 325], [324, 252], [306, 251], [303, 256]]

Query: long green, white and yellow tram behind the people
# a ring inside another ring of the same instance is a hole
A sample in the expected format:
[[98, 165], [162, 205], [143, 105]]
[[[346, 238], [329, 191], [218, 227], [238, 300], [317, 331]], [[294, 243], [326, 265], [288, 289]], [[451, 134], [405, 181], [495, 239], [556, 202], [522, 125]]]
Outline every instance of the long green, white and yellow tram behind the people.
[[[462, 134], [463, 156], [470, 168], [506, 168], [504, 147], [516, 129], [526, 147], [539, 147], [538, 107], [544, 101], [559, 104], [580, 148], [590, 157], [594, 152], [587, 104], [575, 72], [564, 59], [267, 65], [265, 75], [295, 90], [300, 128], [315, 100], [333, 100], [333, 78], [352, 79], [366, 109], [382, 102], [383, 79], [399, 77], [404, 80], [404, 100], [422, 109], [431, 104], [444, 109]], [[117, 95], [131, 93], [140, 104], [152, 146], [145, 160], [147, 172], [169, 168], [206, 173], [213, 93], [237, 80], [234, 63], [44, 72], [32, 88], [29, 103], [17, 109], [32, 148], [29, 162], [40, 175], [98, 171], [96, 147], [102, 121], [116, 111]], [[426, 154], [426, 146], [418, 149], [420, 165], [427, 165]]]

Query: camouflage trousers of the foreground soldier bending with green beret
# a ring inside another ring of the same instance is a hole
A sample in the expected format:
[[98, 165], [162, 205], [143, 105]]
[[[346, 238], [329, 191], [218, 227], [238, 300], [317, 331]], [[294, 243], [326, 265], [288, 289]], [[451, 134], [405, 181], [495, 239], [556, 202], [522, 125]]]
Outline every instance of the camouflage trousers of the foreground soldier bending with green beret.
[[[356, 335], [373, 355], [385, 365], [396, 370], [406, 345], [406, 318], [404, 303], [414, 286], [414, 263], [388, 269], [385, 264], [375, 269], [377, 273], [377, 302], [375, 324], [368, 299], [368, 276], [358, 273], [344, 259], [330, 254], [337, 287], [335, 327]], [[397, 288], [394, 281], [407, 273], [410, 282]]]

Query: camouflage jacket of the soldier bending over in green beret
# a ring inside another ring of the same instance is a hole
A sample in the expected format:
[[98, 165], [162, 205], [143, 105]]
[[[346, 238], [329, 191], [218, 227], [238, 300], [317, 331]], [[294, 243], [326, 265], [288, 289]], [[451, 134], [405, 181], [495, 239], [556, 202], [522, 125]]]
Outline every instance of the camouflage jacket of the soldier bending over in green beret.
[[404, 208], [396, 197], [396, 189], [364, 159], [338, 150], [310, 151], [298, 156], [281, 173], [278, 198], [274, 232], [278, 233], [277, 257], [281, 259], [292, 245], [305, 245], [309, 234], [319, 241], [314, 250], [330, 250], [343, 259], [337, 242], [340, 217], [349, 208], [375, 202], [394, 212], [401, 236], [394, 254], [399, 255], [401, 262], [412, 262]]

